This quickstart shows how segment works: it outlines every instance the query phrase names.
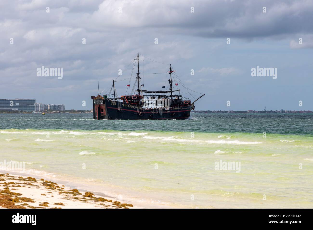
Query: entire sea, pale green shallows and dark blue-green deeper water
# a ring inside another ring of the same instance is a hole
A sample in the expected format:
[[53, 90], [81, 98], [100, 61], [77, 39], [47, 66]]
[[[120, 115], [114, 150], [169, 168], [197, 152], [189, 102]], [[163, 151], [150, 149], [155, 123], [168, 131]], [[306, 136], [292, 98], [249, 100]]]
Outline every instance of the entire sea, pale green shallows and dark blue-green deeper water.
[[313, 207], [312, 114], [0, 114], [4, 161], [143, 207]]

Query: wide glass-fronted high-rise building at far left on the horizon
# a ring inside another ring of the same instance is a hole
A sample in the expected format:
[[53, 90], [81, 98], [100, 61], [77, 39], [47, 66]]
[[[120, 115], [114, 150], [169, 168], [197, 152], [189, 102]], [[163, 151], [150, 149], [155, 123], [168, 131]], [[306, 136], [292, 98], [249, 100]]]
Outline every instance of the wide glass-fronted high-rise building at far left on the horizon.
[[16, 98], [0, 99], [0, 110], [5, 111], [36, 111], [36, 99]]

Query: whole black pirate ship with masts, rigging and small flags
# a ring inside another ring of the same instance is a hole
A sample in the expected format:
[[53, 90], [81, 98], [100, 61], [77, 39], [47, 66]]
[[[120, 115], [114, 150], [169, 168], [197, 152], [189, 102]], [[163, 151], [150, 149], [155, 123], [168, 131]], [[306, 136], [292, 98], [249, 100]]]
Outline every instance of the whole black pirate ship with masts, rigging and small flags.
[[[136, 74], [137, 75], [136, 81], [131, 91], [131, 94], [122, 95], [119, 97], [117, 95], [116, 88], [115, 88], [115, 82], [117, 81], [116, 79], [114, 79], [113, 84], [111, 85], [111, 88], [110, 88], [110, 92], [108, 94], [100, 95], [99, 82], [98, 82], [98, 95], [91, 96], [91, 99], [93, 100], [94, 119], [96, 120], [103, 120], [103, 119], [108, 119], [108, 120], [111, 120], [111, 119], [121, 119], [121, 120], [180, 119], [182, 120], [182, 119], [189, 118], [191, 110], [195, 109], [194, 103], [197, 100], [199, 100], [201, 97], [203, 97], [204, 94], [198, 97], [197, 99], [193, 97], [194, 95], [190, 94], [194, 99], [193, 102], [191, 102], [190, 99], [183, 97], [181, 95], [180, 89], [178, 88], [178, 83], [182, 84], [187, 91], [189, 88], [186, 85], [184, 85], [182, 81], [178, 78], [177, 74], [175, 73], [176, 70], [172, 70], [171, 64], [170, 64], [170, 68], [167, 71], [167, 74], [170, 75], [169, 76], [170, 79], [168, 79], [169, 90], [150, 91], [150, 90], [142, 89], [142, 87], [144, 87], [144, 84], [141, 84], [140, 82], [141, 80], [141, 77], [140, 77], [141, 73], [139, 72], [140, 60], [142, 59], [139, 59], [139, 53], [138, 53], [137, 58], [132, 61], [133, 69], [135, 65], [137, 64], [138, 71]], [[128, 65], [128, 67], [130, 65]], [[131, 82], [131, 77], [129, 79], [130, 79], [129, 82]], [[173, 80], [177, 88], [175, 90], [173, 88]], [[126, 85], [126, 87], [130, 87], [130, 84]], [[135, 90], [135, 88], [137, 89]], [[165, 88], [165, 85], [162, 86], [162, 88]], [[195, 91], [192, 91], [192, 92], [195, 92]]]

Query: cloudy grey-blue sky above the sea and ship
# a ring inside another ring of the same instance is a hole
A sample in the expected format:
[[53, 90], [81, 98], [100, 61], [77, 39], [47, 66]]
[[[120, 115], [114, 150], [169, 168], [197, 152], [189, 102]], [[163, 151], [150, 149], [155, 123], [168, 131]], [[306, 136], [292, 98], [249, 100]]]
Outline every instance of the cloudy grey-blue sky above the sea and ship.
[[[141, 74], [144, 88], [167, 85], [172, 64], [205, 93], [196, 110], [313, 110], [312, 12], [309, 0], [1, 0], [0, 98], [91, 109], [97, 81], [100, 92], [110, 87], [139, 52], [141, 72], [163, 73]], [[37, 76], [41, 66], [63, 68], [63, 78]], [[256, 66], [277, 68], [277, 79], [251, 76]], [[116, 83], [118, 95], [128, 81]]]

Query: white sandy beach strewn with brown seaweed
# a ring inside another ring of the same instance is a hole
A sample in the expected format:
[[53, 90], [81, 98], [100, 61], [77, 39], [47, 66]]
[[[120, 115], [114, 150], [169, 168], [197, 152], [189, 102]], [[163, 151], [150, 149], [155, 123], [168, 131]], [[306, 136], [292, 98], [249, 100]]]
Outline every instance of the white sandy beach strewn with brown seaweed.
[[0, 173], [0, 208], [139, 208], [44, 178]]

